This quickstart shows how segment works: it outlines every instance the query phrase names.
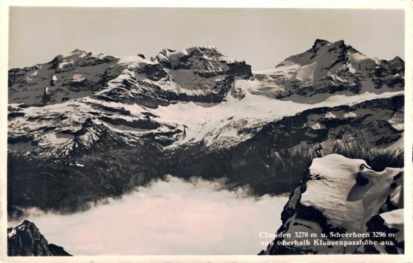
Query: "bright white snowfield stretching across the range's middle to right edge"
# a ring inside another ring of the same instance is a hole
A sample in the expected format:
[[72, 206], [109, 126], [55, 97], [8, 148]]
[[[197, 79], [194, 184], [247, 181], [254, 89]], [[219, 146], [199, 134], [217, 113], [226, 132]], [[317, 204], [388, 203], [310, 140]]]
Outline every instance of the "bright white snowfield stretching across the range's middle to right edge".
[[[249, 138], [237, 133], [240, 128], [237, 123], [240, 123], [240, 120], [246, 120], [243, 127], [254, 127], [260, 123], [279, 120], [284, 116], [293, 116], [315, 107], [354, 105], [375, 98], [390, 98], [404, 94], [404, 92], [385, 92], [383, 94], [365, 92], [359, 96], [334, 95], [324, 102], [312, 105], [293, 101], [279, 101], [266, 96], [254, 95], [251, 94], [251, 86], [248, 86], [248, 84], [250, 84], [248, 81], [237, 81], [235, 83], [235, 87], [242, 89], [245, 94], [245, 97], [241, 100], [229, 95], [226, 101], [217, 105], [193, 102], [176, 103], [151, 109], [151, 112], [159, 117], [156, 118], [157, 121], [176, 123], [180, 127], [185, 127], [186, 137], [179, 140], [178, 144], [195, 143], [204, 138], [211, 141], [211, 138], [219, 138], [220, 136], [229, 137], [229, 140], [235, 143]], [[326, 117], [331, 118], [330, 116]], [[345, 116], [345, 118], [351, 117], [354, 117], [354, 113]], [[216, 134], [222, 128], [224, 128], [225, 133]], [[231, 146], [231, 142], [228, 146]]]

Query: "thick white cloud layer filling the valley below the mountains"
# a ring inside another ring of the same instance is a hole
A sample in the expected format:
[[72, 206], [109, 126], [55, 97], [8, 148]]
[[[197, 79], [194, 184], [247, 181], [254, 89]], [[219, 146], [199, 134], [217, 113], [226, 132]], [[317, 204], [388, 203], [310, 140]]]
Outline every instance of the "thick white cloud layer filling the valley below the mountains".
[[32, 213], [28, 220], [73, 255], [255, 255], [271, 241], [260, 232], [275, 233], [281, 225], [287, 200], [169, 176], [83, 213]]

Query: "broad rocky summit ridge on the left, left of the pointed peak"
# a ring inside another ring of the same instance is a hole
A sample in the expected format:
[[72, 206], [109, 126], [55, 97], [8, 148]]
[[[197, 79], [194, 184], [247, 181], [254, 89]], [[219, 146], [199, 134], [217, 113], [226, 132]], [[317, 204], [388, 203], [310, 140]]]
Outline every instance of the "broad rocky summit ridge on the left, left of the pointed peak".
[[74, 50], [49, 63], [10, 70], [9, 102], [42, 106], [94, 95], [147, 107], [172, 101], [219, 103], [236, 79], [251, 76], [251, 66], [209, 46], [165, 49], [153, 61]]

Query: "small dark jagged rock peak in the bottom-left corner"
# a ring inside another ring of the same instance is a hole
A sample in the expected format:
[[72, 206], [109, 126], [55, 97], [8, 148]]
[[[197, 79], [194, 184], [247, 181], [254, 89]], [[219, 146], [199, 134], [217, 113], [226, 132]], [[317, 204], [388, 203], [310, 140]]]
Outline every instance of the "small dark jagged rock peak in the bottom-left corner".
[[63, 247], [49, 244], [39, 229], [30, 221], [23, 220], [16, 227], [7, 229], [8, 255], [67, 256]]

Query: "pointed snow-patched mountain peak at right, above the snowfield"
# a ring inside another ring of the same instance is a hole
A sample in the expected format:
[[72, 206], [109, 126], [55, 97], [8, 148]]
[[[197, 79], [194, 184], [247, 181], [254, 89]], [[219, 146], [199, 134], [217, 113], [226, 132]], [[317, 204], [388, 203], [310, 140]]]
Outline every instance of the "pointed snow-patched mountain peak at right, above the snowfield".
[[317, 103], [326, 99], [326, 92], [352, 96], [400, 90], [404, 85], [403, 72], [401, 59], [380, 60], [362, 54], [342, 40], [331, 43], [317, 39], [312, 48], [289, 56], [275, 69], [254, 72], [252, 92]]

